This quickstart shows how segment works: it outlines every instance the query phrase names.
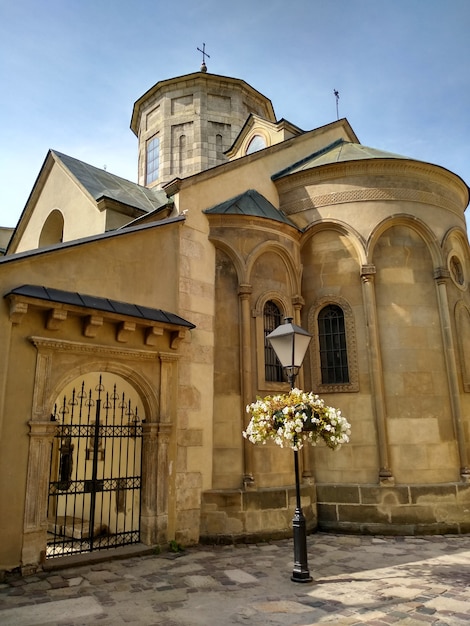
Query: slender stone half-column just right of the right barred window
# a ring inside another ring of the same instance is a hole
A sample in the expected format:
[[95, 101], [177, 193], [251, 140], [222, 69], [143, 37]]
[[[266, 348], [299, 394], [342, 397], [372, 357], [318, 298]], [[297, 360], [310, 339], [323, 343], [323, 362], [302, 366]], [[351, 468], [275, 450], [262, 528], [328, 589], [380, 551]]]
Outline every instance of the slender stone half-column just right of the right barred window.
[[382, 359], [380, 353], [379, 328], [377, 323], [377, 305], [375, 300], [375, 266], [363, 265], [361, 269], [364, 313], [368, 333], [368, 357], [373, 411], [377, 425], [379, 444], [379, 483], [393, 485], [395, 480], [390, 469], [388, 455], [388, 436], [386, 424], [385, 392], [383, 382]]

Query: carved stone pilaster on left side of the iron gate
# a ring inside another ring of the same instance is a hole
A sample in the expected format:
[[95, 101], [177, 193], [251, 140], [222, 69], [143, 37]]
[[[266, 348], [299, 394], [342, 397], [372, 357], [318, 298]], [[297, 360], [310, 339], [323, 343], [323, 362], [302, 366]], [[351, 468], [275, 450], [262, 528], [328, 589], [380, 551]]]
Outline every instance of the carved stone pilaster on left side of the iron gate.
[[51, 449], [57, 426], [54, 421], [30, 421], [28, 424], [30, 441], [21, 553], [25, 575], [36, 571], [46, 558]]

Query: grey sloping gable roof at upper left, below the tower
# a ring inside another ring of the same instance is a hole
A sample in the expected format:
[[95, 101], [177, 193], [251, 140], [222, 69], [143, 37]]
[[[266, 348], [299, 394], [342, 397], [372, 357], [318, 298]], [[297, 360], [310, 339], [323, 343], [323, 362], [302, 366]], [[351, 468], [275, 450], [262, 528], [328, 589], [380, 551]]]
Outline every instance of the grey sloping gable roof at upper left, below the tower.
[[101, 198], [110, 198], [147, 213], [165, 206], [168, 201], [162, 189], [147, 189], [56, 150], [51, 150], [51, 152], [96, 201]]

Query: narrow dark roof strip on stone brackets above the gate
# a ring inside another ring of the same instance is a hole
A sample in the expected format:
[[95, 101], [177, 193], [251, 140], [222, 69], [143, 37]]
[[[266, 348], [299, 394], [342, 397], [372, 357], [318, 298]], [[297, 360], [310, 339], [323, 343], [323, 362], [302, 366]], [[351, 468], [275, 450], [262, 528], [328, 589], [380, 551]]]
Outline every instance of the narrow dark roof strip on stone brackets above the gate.
[[179, 317], [179, 315], [168, 313], [168, 311], [162, 311], [161, 309], [153, 309], [139, 304], [119, 302], [118, 300], [110, 300], [109, 298], [102, 298], [100, 296], [90, 296], [84, 293], [63, 291], [62, 289], [53, 289], [51, 287], [22, 285], [21, 287], [16, 287], [12, 291], [5, 294], [5, 297], [10, 295], [26, 296], [29, 298], [37, 298], [39, 300], [57, 302], [69, 306], [78, 306], [87, 309], [95, 309], [97, 311], [105, 311], [106, 313], [128, 315], [129, 317], [137, 317], [144, 320], [150, 320], [152, 322], [196, 328], [194, 324], [186, 321], [182, 317]]

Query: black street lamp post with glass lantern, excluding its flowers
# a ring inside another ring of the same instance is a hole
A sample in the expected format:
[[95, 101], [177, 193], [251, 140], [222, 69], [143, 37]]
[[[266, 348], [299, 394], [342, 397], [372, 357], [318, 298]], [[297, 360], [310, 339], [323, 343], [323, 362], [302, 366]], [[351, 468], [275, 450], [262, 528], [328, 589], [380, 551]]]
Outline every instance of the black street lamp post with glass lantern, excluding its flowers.
[[[267, 335], [267, 339], [269, 339], [277, 358], [281, 362], [287, 374], [287, 380], [293, 389], [295, 378], [299, 373], [312, 336], [300, 326], [292, 324], [291, 317], [286, 317], [284, 322]], [[294, 450], [294, 468], [296, 508], [292, 520], [294, 570], [291, 580], [296, 583], [309, 583], [312, 581], [312, 577], [308, 569], [307, 533], [300, 501], [299, 453], [297, 450]]]

